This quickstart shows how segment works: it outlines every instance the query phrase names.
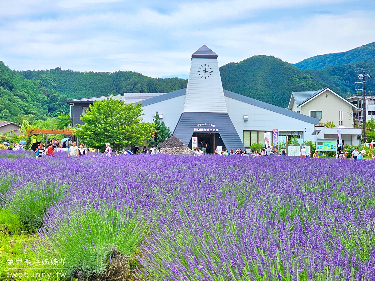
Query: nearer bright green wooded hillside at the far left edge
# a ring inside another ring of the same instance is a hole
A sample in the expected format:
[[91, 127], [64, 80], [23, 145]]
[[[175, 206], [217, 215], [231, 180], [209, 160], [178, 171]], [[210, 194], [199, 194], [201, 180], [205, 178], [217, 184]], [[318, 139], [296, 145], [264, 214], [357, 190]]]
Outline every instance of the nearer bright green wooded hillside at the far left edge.
[[30, 81], [0, 61], [0, 120], [21, 124], [68, 112], [66, 96]]

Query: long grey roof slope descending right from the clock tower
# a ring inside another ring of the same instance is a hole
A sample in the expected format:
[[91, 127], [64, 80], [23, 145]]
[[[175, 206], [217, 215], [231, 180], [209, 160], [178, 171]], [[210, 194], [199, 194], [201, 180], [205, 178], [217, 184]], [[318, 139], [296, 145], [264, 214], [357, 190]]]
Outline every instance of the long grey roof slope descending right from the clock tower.
[[283, 114], [285, 116], [289, 116], [295, 119], [299, 119], [299, 120], [302, 120], [311, 124], [319, 124], [319, 119], [317, 118], [312, 118], [310, 116], [306, 116], [306, 115], [303, 115], [303, 114], [300, 114], [291, 110], [287, 110], [285, 108], [278, 107], [273, 104], [267, 104], [267, 102], [258, 101], [257, 99], [249, 98], [247, 96], [236, 94], [227, 90], [224, 90], [224, 96], [227, 96], [228, 98], [232, 98], [232, 99], [237, 99], [237, 101], [246, 102], [247, 104], [252, 104], [256, 107], [264, 108], [264, 109], [267, 109], [267, 110], [270, 110], [279, 114]]

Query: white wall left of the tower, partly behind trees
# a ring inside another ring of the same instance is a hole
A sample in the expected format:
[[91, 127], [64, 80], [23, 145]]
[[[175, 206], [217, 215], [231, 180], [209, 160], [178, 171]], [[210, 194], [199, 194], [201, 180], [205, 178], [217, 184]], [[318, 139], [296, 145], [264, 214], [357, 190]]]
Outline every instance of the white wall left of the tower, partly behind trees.
[[173, 133], [174, 128], [177, 125], [178, 119], [180, 119], [183, 107], [184, 107], [185, 96], [178, 96], [172, 99], [167, 99], [165, 101], [156, 102], [154, 104], [142, 106], [143, 120], [145, 122], [153, 122], [153, 116], [155, 116], [156, 111], [159, 114], [163, 114], [163, 121], [165, 126], [169, 126], [169, 129]]

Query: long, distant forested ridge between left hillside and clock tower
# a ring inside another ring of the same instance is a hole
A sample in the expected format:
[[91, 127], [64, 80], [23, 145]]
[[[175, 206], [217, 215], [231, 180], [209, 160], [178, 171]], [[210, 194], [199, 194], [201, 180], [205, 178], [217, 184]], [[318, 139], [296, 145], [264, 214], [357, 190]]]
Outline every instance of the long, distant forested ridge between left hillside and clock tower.
[[55, 68], [20, 71], [23, 77], [68, 96], [91, 98], [123, 93], [168, 93], [187, 85], [181, 78], [151, 78], [138, 72], [78, 72]]

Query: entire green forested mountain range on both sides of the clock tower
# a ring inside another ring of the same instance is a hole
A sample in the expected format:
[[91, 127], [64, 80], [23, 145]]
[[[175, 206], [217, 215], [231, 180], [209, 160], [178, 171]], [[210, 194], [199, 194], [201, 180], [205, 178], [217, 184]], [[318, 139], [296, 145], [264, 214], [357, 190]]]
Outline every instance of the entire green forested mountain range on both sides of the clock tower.
[[[301, 69], [304, 69], [303, 71]], [[223, 88], [286, 107], [293, 90], [330, 87], [353, 94], [358, 74], [375, 75], [375, 42], [353, 50], [312, 57], [295, 66], [272, 56], [254, 56], [220, 67]], [[12, 71], [0, 62], [0, 120], [22, 123], [68, 112], [67, 99], [110, 94], [168, 93], [186, 87], [181, 78], [151, 78], [132, 71], [77, 72], [55, 68]], [[374, 79], [366, 88], [375, 88]]]

